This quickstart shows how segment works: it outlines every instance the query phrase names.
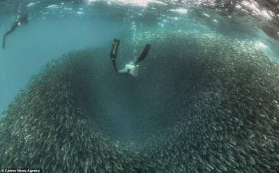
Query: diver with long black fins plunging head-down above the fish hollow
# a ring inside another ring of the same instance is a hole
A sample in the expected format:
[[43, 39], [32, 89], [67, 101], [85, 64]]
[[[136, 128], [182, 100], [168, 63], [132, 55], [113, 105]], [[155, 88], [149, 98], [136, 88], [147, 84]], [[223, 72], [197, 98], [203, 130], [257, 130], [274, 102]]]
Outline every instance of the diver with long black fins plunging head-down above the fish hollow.
[[144, 47], [144, 50], [142, 51], [142, 54], [140, 55], [140, 57], [138, 57], [137, 59], [134, 59], [134, 61], [131, 61], [130, 63], [125, 65], [125, 68], [119, 70], [116, 67], [116, 57], [117, 57], [117, 52], [118, 52], [118, 48], [119, 48], [119, 43], [120, 40], [117, 40], [116, 38], [114, 38], [114, 41], [112, 42], [112, 49], [110, 50], [110, 59], [112, 59], [112, 65], [114, 67], [114, 71], [117, 74], [128, 74], [131, 75], [133, 77], [137, 77], [137, 71], [139, 68], [139, 63], [140, 61], [143, 61], [146, 57], [146, 55], [148, 54], [151, 45], [147, 44]]

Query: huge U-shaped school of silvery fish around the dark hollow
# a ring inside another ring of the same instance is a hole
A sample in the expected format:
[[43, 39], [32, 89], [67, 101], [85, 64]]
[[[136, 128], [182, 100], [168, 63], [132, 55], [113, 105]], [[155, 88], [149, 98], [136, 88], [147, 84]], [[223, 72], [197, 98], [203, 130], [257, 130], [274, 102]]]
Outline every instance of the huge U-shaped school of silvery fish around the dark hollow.
[[[91, 79], [98, 73], [92, 64], [107, 59], [107, 49], [70, 52], [49, 63], [8, 106], [0, 123], [0, 167], [277, 172], [278, 61], [252, 43], [215, 34], [172, 33], [153, 37], [151, 45], [140, 81], [172, 80], [165, 93], [176, 98], [167, 101], [169, 109], [177, 107], [169, 113], [176, 117], [174, 124], [149, 135], [142, 146], [110, 140], [97, 128], [88, 97], [98, 85]], [[100, 73], [105, 73], [103, 68], [100, 65]]]

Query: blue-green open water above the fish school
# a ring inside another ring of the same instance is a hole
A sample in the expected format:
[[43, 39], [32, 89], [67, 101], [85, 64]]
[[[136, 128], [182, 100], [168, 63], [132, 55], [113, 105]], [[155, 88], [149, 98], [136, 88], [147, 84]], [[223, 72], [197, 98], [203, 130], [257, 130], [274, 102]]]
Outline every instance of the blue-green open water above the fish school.
[[[17, 11], [19, 6], [25, 6], [21, 8], [30, 14], [30, 22], [10, 34], [6, 38], [6, 50], [0, 50], [0, 112], [6, 110], [17, 91], [51, 59], [84, 47], [101, 47], [117, 37], [132, 41], [140, 34], [156, 29], [218, 33], [237, 40], [252, 41], [266, 54], [279, 57], [278, 40], [264, 33], [262, 25], [257, 25], [259, 15], [253, 17], [252, 12], [234, 15], [227, 13], [226, 8], [220, 15], [202, 6], [201, 2], [199, 5], [195, 5], [197, 1], [193, 2], [183, 4], [174, 1], [172, 5], [160, 1], [1, 2], [2, 36], [17, 20], [17, 13], [10, 11]], [[239, 12], [239, 6], [241, 10], [250, 9], [243, 5], [248, 1], [243, 2], [234, 3], [229, 10]], [[224, 2], [215, 3], [220, 5]], [[264, 10], [266, 7], [255, 9], [258, 13], [257, 9]], [[276, 17], [276, 11], [274, 15]], [[260, 19], [266, 25], [272, 22], [270, 18]]]

